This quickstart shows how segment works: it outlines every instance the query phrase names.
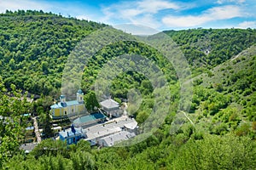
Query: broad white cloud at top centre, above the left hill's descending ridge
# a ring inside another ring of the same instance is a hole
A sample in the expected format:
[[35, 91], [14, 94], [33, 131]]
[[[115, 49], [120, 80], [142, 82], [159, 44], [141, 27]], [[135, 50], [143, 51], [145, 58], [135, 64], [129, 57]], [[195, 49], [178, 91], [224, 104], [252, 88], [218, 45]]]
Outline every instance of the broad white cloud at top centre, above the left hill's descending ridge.
[[154, 14], [164, 9], [178, 8], [180, 7], [176, 3], [170, 3], [166, 0], [141, 0], [116, 3], [107, 8], [102, 8], [102, 12], [105, 14], [102, 21], [109, 22], [110, 20], [117, 19], [123, 22], [157, 28], [160, 26], [160, 22], [154, 18]]

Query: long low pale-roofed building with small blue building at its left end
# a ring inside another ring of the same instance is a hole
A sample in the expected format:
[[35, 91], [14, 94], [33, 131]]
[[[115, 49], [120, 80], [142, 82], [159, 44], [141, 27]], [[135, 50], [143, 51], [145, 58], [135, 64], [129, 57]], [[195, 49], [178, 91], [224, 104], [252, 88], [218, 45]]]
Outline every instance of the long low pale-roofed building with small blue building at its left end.
[[120, 141], [133, 138], [136, 133], [137, 122], [134, 118], [119, 117], [86, 128], [72, 125], [71, 128], [61, 131], [59, 135], [62, 141], [67, 141], [67, 144], [77, 144], [80, 139], [84, 139], [90, 142], [90, 145], [113, 146]]

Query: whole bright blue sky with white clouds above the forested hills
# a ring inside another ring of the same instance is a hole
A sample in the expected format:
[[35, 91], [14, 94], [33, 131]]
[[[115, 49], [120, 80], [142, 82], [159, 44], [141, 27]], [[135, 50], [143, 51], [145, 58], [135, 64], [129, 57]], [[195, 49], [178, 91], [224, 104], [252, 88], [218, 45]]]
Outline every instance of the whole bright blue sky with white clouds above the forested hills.
[[109, 25], [138, 24], [158, 31], [256, 28], [255, 0], [0, 0], [6, 9], [37, 9]]

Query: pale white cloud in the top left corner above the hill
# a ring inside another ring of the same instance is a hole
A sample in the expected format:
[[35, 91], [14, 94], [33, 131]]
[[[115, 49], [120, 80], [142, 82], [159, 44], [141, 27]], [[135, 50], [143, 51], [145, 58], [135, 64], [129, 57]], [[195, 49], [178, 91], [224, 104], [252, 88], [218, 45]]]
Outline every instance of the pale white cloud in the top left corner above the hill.
[[4, 13], [6, 9], [15, 11], [18, 9], [32, 9], [32, 10], [49, 10], [51, 6], [48, 3], [38, 3], [32, 0], [1, 0], [0, 1], [0, 13]]

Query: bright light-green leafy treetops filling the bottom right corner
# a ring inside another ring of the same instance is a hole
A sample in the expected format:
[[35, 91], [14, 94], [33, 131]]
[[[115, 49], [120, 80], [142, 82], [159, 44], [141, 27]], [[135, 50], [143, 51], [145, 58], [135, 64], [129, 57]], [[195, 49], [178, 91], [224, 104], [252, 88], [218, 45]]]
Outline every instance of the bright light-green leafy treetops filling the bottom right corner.
[[255, 167], [255, 142], [247, 137], [205, 134], [190, 139], [178, 150], [172, 166], [177, 169], [251, 169]]

